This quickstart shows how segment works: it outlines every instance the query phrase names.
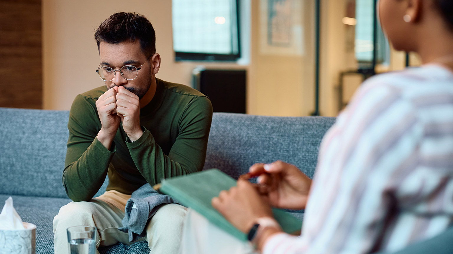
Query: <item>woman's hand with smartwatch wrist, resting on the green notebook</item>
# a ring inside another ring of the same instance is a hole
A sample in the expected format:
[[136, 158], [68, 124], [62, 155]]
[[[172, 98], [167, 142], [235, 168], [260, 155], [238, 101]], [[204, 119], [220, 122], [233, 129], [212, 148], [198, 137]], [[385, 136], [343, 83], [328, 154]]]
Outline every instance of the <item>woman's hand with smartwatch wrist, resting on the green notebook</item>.
[[273, 217], [270, 205], [247, 180], [239, 179], [237, 186], [231, 187], [229, 191], [222, 191], [211, 202], [212, 207], [244, 233], [249, 232], [256, 219]]

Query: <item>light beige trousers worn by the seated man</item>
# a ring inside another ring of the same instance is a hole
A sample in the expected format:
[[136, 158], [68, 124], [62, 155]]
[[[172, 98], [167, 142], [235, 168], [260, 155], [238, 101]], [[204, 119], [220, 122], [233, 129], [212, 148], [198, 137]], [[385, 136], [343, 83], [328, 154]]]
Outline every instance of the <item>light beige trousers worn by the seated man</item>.
[[[70, 202], [60, 208], [53, 218], [53, 244], [56, 254], [68, 254], [66, 229], [71, 226], [96, 226], [96, 248], [118, 242], [130, 245], [128, 233], [121, 232], [121, 221], [130, 195], [111, 190], [88, 202]], [[166, 204], [159, 208], [146, 226], [151, 253], [177, 253], [187, 208], [178, 204]], [[137, 240], [137, 241], [139, 241]], [[99, 252], [96, 250], [96, 253]]]

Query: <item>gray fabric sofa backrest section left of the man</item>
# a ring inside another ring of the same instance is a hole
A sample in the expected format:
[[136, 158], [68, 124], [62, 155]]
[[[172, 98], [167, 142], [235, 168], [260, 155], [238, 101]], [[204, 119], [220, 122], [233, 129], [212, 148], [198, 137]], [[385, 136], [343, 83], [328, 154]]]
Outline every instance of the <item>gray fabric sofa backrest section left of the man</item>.
[[1, 194], [67, 198], [62, 174], [68, 119], [69, 111], [0, 108]]

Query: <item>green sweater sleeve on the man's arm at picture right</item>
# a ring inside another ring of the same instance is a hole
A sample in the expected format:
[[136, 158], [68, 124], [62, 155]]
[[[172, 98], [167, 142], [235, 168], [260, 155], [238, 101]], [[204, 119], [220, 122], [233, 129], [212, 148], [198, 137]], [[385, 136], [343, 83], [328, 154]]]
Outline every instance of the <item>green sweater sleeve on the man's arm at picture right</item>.
[[145, 128], [138, 140], [126, 140], [135, 166], [151, 185], [160, 183], [164, 178], [201, 170], [206, 158], [211, 122], [212, 105], [209, 99], [204, 96], [194, 98], [184, 108], [178, 122], [178, 136], [168, 155]]

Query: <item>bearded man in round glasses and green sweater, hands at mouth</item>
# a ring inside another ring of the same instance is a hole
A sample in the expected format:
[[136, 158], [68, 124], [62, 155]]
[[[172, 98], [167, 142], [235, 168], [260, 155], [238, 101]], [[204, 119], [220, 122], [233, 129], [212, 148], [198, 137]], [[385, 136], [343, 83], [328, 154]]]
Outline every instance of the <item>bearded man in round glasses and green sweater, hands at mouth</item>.
[[[66, 229], [96, 226], [98, 246], [129, 245], [121, 232], [133, 191], [199, 171], [212, 120], [209, 99], [155, 78], [160, 56], [154, 28], [139, 14], [116, 13], [96, 30], [104, 86], [77, 95], [68, 129], [63, 186], [73, 202], [53, 220], [55, 253], [68, 253]], [[93, 198], [109, 178], [106, 192]], [[166, 204], [145, 227], [152, 253], [176, 253], [186, 210]]]

